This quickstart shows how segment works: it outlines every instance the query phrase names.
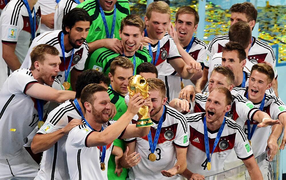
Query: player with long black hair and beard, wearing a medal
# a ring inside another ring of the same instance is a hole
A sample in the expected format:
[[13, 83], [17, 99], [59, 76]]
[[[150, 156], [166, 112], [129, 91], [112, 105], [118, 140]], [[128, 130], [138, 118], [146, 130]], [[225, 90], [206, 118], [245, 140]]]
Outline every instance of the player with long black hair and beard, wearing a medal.
[[65, 89], [69, 89], [67, 82], [69, 73], [72, 89], [75, 90], [76, 79], [84, 70], [84, 63], [88, 57], [88, 45], [86, 37], [92, 23], [91, 17], [86, 10], [75, 8], [69, 11], [63, 20], [62, 30], [49, 31], [34, 39], [25, 58], [22, 68], [31, 66], [30, 52], [38, 44], [49, 44], [60, 52], [61, 64], [57, 78]]

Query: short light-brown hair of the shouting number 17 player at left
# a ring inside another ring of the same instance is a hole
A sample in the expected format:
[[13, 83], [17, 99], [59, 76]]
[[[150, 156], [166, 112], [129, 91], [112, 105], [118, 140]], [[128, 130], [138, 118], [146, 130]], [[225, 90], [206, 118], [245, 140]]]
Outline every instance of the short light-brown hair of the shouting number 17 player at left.
[[45, 61], [45, 55], [59, 55], [59, 51], [54, 46], [48, 44], [39, 44], [33, 47], [32, 52], [30, 53], [31, 57], [31, 70], [35, 69], [34, 63], [38, 61], [39, 63], [43, 64]]

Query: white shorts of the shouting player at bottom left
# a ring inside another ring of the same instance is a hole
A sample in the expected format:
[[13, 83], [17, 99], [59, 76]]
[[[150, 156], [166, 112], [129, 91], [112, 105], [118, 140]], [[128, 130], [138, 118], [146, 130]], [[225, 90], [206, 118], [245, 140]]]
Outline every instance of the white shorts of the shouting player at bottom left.
[[0, 159], [0, 180], [32, 180], [36, 177], [39, 167], [31, 155], [22, 147], [15, 156]]

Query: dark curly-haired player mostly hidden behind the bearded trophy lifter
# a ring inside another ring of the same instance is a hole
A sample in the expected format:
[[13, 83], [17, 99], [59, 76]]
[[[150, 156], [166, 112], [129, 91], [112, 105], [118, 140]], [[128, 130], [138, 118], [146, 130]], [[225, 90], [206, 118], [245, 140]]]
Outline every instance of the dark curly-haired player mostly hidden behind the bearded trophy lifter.
[[[82, 72], [76, 82], [76, 100], [79, 105], [82, 89], [91, 83], [108, 87], [109, 79], [102, 73], [89, 69]], [[65, 142], [69, 131], [82, 124], [81, 115], [73, 100], [66, 101], [51, 111], [45, 124], [33, 138], [33, 153], [43, 152], [40, 170], [35, 179], [69, 179]]]

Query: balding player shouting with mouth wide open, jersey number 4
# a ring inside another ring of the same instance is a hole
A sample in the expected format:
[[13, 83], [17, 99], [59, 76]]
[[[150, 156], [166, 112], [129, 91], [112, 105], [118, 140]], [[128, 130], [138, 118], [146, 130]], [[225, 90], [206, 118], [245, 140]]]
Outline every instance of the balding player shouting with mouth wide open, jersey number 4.
[[[223, 162], [231, 149], [243, 160], [251, 179], [263, 179], [243, 130], [235, 121], [225, 117], [231, 103], [232, 95], [229, 89], [217, 87], [207, 98], [205, 112], [186, 117], [190, 145], [187, 152], [187, 169], [182, 175], [188, 179], [196, 174], [208, 176], [222, 172]], [[263, 127], [263, 124], [259, 127]]]

